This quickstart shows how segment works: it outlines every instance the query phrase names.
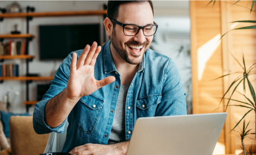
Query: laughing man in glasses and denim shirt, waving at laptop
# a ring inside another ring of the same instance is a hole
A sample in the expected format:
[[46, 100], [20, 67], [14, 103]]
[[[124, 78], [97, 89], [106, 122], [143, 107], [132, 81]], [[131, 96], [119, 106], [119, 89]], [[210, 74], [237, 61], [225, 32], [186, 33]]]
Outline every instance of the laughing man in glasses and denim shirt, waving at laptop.
[[64, 133], [68, 120], [63, 152], [124, 155], [138, 117], [186, 114], [176, 65], [148, 49], [151, 0], [109, 0], [104, 26], [111, 40], [72, 52], [34, 110], [38, 134]]

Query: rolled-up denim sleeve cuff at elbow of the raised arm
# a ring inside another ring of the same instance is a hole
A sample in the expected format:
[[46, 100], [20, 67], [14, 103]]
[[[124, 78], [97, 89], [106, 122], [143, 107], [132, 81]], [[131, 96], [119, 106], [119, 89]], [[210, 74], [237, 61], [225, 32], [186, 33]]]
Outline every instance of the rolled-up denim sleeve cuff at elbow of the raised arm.
[[44, 100], [36, 103], [36, 107], [35, 107], [34, 114], [33, 114], [34, 130], [37, 134], [45, 134], [45, 133], [51, 133], [51, 132], [64, 133], [67, 118], [60, 126], [55, 127], [55, 128], [51, 128], [44, 121], [44, 109], [49, 100], [50, 99], [44, 99]]

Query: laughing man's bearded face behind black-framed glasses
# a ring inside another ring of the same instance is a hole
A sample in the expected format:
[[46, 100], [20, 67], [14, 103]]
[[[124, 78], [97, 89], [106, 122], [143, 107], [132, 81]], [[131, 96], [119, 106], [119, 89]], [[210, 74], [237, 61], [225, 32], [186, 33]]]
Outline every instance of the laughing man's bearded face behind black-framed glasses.
[[[129, 3], [119, 6], [116, 21], [122, 24], [146, 26], [154, 24], [153, 13], [149, 3]], [[153, 36], [144, 36], [142, 30], [136, 36], [126, 36], [123, 27], [115, 25], [111, 34], [111, 44], [116, 53], [129, 64], [140, 64], [143, 54], [153, 40]], [[133, 48], [133, 46], [136, 46]]]

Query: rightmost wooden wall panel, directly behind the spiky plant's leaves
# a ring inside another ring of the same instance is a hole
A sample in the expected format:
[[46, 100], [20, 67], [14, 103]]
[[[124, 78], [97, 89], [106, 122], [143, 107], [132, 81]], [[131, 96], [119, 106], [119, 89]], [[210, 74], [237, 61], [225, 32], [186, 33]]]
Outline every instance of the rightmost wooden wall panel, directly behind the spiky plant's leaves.
[[[236, 2], [236, 0], [230, 0], [231, 3]], [[245, 9], [241, 6], [251, 6], [251, 3], [248, 4], [248, 1], [242, 0], [237, 3], [240, 6], [231, 6], [231, 14], [232, 17], [230, 21], [237, 21], [237, 20], [256, 20], [256, 12], [251, 12], [249, 9]], [[253, 8], [256, 10], [256, 8]], [[255, 24], [246, 24], [246, 23], [239, 23], [234, 28], [240, 28], [243, 26], [252, 26]], [[246, 67], [249, 68], [252, 64], [256, 62], [256, 30], [234, 30], [232, 31], [232, 53], [233, 55], [239, 60], [240, 63], [242, 63], [242, 53], [244, 53], [244, 58], [246, 61]], [[233, 61], [233, 71], [240, 71], [242, 68], [239, 66], [239, 64], [236, 61]], [[256, 75], [251, 75], [250, 79], [256, 79]], [[256, 83], [253, 83], [254, 88], [256, 88]], [[248, 87], [246, 87], [246, 96], [248, 96], [250, 99], [252, 99], [250, 95], [250, 91]], [[243, 88], [239, 87], [238, 91], [243, 93]], [[240, 101], [246, 101], [246, 99], [240, 95], [239, 93], [236, 93], [234, 95], [234, 99], [238, 99]], [[246, 101], [247, 102], [247, 101]], [[238, 104], [238, 103], [236, 103]], [[247, 108], [239, 108], [234, 107], [234, 120], [238, 122], [244, 113], [248, 111]], [[255, 113], [252, 111], [249, 113], [246, 117], [246, 122], [251, 121], [250, 125], [248, 126], [248, 129], [253, 129], [251, 132], [255, 133]], [[242, 123], [240, 124], [240, 128], [242, 128]], [[239, 128], [236, 128], [237, 131], [239, 131]], [[234, 132], [235, 133], [235, 132]], [[248, 137], [255, 138], [255, 135], [248, 135]], [[236, 143], [236, 150], [241, 150], [241, 140], [239, 137], [236, 137], [235, 139]], [[252, 144], [253, 152], [256, 152], [256, 141], [246, 138], [244, 139], [244, 144], [247, 148]]]

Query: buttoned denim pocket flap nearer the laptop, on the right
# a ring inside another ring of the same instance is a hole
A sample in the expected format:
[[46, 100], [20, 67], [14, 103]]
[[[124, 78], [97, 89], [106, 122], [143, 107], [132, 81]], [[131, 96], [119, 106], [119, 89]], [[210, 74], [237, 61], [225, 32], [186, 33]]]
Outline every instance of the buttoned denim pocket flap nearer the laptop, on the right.
[[153, 105], [156, 105], [161, 102], [162, 95], [161, 94], [154, 94], [154, 95], [147, 95], [144, 97], [139, 97], [137, 99], [136, 106], [142, 110], [148, 109]]

